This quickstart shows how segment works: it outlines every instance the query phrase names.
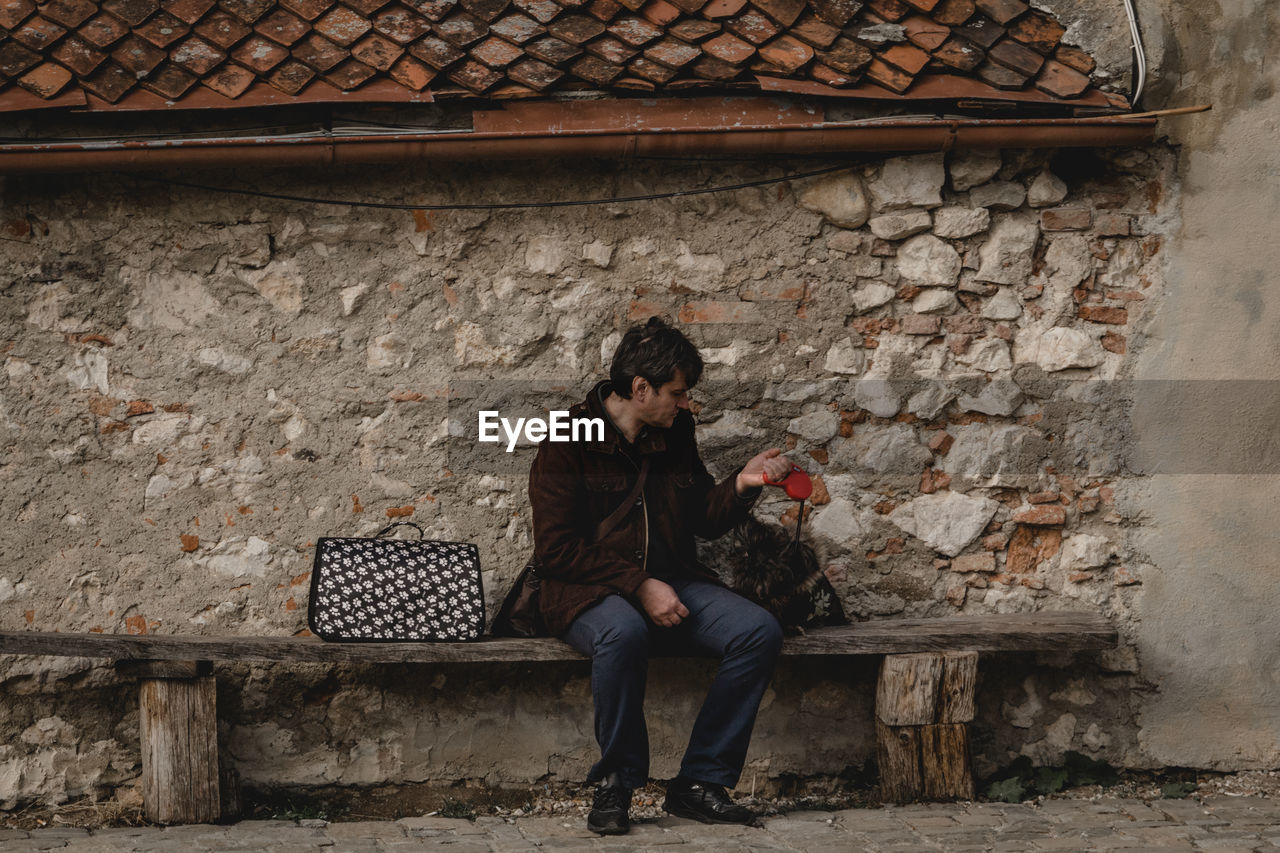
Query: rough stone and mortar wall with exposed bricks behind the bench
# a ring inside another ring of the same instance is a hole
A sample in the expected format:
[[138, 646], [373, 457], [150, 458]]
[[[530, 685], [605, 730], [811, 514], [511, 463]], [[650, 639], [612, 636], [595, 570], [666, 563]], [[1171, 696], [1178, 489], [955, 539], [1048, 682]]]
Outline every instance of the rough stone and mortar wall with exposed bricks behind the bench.
[[[1164, 297], [1172, 167], [1160, 146], [961, 151], [506, 213], [10, 178], [0, 625], [300, 634], [315, 539], [401, 517], [476, 542], [492, 608], [530, 547], [532, 448], [477, 444], [476, 411], [579, 398], [621, 329], [664, 313], [709, 362], [695, 401], [713, 471], [778, 444], [815, 476], [806, 529], [847, 611], [1083, 608], [1120, 626], [1114, 653], [992, 660], [980, 771], [1065, 749], [1147, 765], [1133, 599], [1152, 567], [1135, 538], [1126, 379]], [[780, 173], [575, 163], [202, 179], [462, 204]], [[758, 506], [794, 514], [777, 493]], [[219, 671], [220, 740], [257, 784], [572, 780], [594, 752], [581, 665]], [[655, 776], [675, 772], [708, 676], [655, 667]], [[860, 767], [873, 678], [865, 662], [783, 667], [744, 785]], [[6, 660], [0, 688], [22, 697], [0, 703], [0, 804], [136, 779], [133, 693], [109, 667]]]

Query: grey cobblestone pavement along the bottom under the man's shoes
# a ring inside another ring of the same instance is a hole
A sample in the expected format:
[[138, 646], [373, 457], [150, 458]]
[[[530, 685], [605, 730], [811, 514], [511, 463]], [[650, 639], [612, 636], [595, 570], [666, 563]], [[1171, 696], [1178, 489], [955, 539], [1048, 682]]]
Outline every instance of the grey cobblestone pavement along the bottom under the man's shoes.
[[927, 804], [791, 812], [762, 826], [660, 817], [599, 838], [581, 817], [411, 817], [399, 821], [243, 821], [131, 829], [0, 830], [0, 850], [352, 853], [508, 850], [1203, 850], [1280, 849], [1280, 799], [1052, 799], [1041, 804]]

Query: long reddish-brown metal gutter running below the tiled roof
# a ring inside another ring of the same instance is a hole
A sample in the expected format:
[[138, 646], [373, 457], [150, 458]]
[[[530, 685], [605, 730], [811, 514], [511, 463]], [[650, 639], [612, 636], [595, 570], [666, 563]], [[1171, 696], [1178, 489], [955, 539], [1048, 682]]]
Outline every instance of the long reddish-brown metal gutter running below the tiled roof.
[[1002, 147], [1140, 146], [1156, 118], [913, 119], [808, 127], [540, 128], [244, 136], [0, 145], [0, 174], [225, 167], [343, 167], [407, 160], [787, 155]]

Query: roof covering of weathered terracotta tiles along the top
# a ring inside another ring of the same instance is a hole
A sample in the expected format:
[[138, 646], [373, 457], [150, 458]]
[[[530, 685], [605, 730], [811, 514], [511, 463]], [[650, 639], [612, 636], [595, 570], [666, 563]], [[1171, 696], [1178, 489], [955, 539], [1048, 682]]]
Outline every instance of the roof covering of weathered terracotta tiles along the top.
[[718, 86], [1123, 102], [1024, 0], [0, 0], [0, 83], [19, 82], [0, 109], [5, 91], [100, 109], [137, 87], [207, 105], [197, 85], [279, 104], [366, 83], [378, 101]]

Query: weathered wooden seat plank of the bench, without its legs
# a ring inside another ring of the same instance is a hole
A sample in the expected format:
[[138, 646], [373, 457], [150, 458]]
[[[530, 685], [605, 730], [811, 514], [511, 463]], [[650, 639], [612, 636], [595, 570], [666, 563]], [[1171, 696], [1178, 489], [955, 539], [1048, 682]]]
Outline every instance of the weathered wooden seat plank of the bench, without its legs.
[[[1096, 613], [1052, 611], [886, 619], [819, 628], [788, 637], [782, 653], [902, 654], [1112, 648], [1117, 634]], [[462, 663], [582, 660], [558, 639], [489, 638], [475, 643], [325, 643], [298, 637], [63, 634], [0, 631], [0, 654], [54, 654], [160, 661], [291, 661], [296, 663]]]

